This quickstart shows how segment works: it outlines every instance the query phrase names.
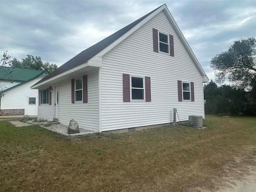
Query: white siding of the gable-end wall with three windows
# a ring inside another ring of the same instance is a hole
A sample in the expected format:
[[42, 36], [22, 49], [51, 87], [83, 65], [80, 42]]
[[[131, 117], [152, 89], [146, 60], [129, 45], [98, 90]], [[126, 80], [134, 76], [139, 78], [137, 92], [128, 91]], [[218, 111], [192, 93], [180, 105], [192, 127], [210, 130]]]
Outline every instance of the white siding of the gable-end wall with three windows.
[[[174, 36], [174, 57], [153, 51], [152, 28]], [[123, 102], [122, 74], [149, 76], [151, 102]], [[178, 102], [177, 80], [194, 82], [194, 102]], [[170, 123], [173, 108], [181, 121], [204, 116], [202, 76], [160, 12], [102, 57], [101, 130]]]

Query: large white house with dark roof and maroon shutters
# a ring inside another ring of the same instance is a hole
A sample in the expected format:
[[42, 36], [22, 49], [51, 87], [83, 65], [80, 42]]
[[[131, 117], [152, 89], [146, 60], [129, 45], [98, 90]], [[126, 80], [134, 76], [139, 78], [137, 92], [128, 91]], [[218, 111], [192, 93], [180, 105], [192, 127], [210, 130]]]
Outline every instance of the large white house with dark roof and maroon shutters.
[[34, 84], [38, 117], [109, 131], [204, 117], [208, 78], [166, 5], [82, 51]]

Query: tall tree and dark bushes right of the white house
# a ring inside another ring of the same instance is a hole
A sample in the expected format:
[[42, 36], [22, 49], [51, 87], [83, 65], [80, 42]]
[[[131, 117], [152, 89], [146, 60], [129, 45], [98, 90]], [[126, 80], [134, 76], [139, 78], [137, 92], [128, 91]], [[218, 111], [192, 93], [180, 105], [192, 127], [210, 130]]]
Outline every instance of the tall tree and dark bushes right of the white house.
[[204, 85], [205, 113], [256, 115], [255, 38], [235, 41], [228, 51], [212, 58], [210, 66], [216, 82]]

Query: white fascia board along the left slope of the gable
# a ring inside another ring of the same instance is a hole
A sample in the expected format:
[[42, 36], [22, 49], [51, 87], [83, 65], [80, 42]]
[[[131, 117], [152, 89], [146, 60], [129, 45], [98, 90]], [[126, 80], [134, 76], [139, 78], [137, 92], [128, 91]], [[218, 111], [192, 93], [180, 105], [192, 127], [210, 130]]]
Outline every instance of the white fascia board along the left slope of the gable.
[[128, 32], [126, 32], [124, 35], [122, 35], [120, 38], [118, 38], [116, 41], [114, 41], [112, 44], [110, 44], [109, 46], [107, 46], [104, 50], [102, 50], [101, 52], [99, 52], [96, 56], [94, 56], [93, 58], [91, 58], [90, 60], [88, 60], [88, 62], [90, 62], [91, 60], [93, 60], [95, 57], [102, 57], [104, 56], [104, 54], [106, 54], [107, 52], [109, 52], [110, 50], [112, 50], [112, 48], [114, 48], [115, 46], [117, 46], [120, 42], [122, 42], [124, 39], [126, 39], [128, 36], [130, 36], [130, 34], [132, 34], [134, 31], [136, 31], [138, 28], [140, 28], [142, 25], [144, 25], [146, 22], [148, 22], [150, 19], [152, 19], [154, 16], [156, 16], [158, 13], [160, 13], [162, 10], [164, 10], [164, 8], [166, 8], [166, 5], [162, 5], [161, 7], [159, 7], [157, 10], [155, 10], [152, 14], [150, 14], [149, 16], [147, 16], [144, 20], [142, 20], [141, 22], [139, 22], [136, 26], [134, 26], [132, 29], [130, 29]]

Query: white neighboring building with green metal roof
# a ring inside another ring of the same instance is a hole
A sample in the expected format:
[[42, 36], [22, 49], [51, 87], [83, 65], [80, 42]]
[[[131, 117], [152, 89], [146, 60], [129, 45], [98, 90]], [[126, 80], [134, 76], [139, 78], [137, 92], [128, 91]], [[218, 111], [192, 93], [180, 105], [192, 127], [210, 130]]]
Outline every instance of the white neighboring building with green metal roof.
[[38, 90], [30, 86], [48, 75], [47, 70], [0, 68], [0, 115], [38, 115]]

